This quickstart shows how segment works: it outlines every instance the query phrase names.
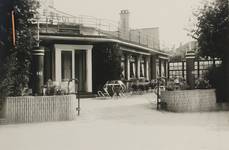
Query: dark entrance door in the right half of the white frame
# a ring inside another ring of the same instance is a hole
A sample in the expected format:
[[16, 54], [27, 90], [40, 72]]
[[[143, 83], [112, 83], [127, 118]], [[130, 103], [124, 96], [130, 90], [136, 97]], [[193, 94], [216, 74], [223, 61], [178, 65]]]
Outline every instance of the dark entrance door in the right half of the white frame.
[[75, 50], [75, 78], [79, 80], [80, 91], [86, 91], [86, 51]]

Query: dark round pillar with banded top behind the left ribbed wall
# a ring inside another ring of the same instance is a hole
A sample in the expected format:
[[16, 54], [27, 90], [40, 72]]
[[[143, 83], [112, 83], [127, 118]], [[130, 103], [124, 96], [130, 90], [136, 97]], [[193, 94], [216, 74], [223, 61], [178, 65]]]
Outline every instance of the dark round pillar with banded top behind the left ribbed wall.
[[44, 84], [44, 48], [42, 47], [32, 51], [32, 76], [33, 95], [40, 95]]

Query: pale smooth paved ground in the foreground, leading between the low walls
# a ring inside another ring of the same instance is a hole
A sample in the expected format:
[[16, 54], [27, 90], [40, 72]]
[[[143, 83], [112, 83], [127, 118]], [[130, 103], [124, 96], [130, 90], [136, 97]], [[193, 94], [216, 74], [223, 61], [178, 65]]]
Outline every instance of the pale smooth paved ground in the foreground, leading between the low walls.
[[75, 121], [0, 126], [1, 150], [228, 150], [229, 112], [156, 111], [154, 95], [84, 99]]

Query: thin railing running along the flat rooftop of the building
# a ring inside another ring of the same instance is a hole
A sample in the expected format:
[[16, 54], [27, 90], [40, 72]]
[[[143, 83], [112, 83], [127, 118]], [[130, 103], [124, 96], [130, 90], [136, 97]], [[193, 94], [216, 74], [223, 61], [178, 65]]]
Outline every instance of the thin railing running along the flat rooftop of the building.
[[135, 43], [149, 48], [159, 50], [159, 43], [155, 41], [155, 37], [149, 33], [142, 33], [138, 30], [129, 30], [124, 32], [120, 29], [119, 23], [108, 20], [99, 19], [90, 16], [70, 16], [60, 15], [58, 13], [40, 14], [39, 19], [36, 21], [39, 24], [44, 25], [46, 31], [49, 31], [50, 26], [56, 26], [57, 28], [61, 25], [66, 26], [83, 26], [93, 28], [97, 32], [97, 36], [106, 36], [108, 38], [117, 38], [123, 41]]

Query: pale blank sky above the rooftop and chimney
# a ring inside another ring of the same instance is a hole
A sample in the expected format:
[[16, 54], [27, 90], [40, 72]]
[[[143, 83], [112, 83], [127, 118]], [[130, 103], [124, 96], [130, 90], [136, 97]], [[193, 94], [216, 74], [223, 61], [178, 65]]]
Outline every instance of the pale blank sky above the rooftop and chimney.
[[[52, 0], [44, 0], [52, 1]], [[54, 7], [72, 15], [119, 20], [122, 9], [130, 11], [130, 27], [159, 27], [161, 48], [191, 41], [193, 12], [206, 0], [53, 0]], [[209, 0], [208, 0], [209, 1]]]

